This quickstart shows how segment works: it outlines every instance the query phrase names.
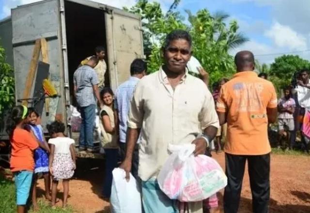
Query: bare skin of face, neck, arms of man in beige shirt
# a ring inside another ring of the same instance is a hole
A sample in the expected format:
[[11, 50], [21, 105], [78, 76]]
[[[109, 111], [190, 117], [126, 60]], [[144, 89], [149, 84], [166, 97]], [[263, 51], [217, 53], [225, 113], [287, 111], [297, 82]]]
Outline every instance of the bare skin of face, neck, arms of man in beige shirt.
[[[186, 73], [186, 64], [191, 57], [191, 46], [185, 39], [174, 39], [170, 42], [167, 48], [163, 48], [163, 55], [165, 64], [163, 70], [166, 73], [168, 80], [173, 90], [180, 83], [182, 77]], [[127, 152], [126, 157], [120, 168], [126, 171], [126, 179], [129, 181], [129, 172], [131, 171], [132, 154], [135, 144], [140, 134], [140, 129], [127, 128]], [[214, 126], [208, 126], [204, 130], [204, 135], [210, 138], [210, 141], [216, 136], [217, 128]], [[207, 148], [207, 144], [204, 138], [197, 138], [192, 141], [196, 145], [194, 151], [195, 155], [204, 154]]]

